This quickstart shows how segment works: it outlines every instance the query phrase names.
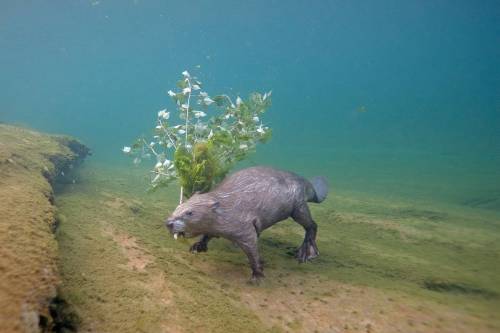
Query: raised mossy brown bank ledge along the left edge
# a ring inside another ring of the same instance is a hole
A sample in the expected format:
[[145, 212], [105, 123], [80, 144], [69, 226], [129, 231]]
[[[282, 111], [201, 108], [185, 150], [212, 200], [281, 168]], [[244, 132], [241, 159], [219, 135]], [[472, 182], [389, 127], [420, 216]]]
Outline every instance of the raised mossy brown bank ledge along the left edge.
[[59, 282], [52, 185], [89, 153], [77, 140], [0, 124], [0, 332], [54, 326]]

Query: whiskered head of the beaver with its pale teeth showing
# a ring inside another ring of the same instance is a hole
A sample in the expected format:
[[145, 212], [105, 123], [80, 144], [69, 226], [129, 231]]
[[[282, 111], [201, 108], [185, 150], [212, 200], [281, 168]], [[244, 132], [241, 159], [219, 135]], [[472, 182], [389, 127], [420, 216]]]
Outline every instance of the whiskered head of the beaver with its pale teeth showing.
[[219, 203], [206, 194], [195, 194], [177, 206], [165, 222], [174, 238], [195, 237], [213, 232], [213, 222]]

